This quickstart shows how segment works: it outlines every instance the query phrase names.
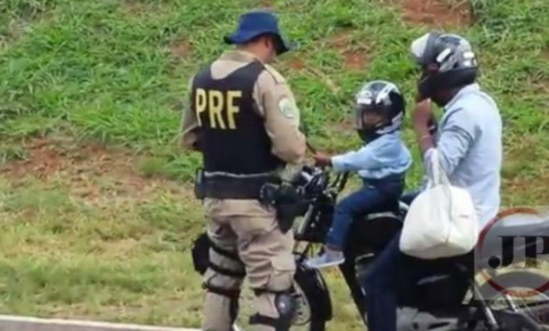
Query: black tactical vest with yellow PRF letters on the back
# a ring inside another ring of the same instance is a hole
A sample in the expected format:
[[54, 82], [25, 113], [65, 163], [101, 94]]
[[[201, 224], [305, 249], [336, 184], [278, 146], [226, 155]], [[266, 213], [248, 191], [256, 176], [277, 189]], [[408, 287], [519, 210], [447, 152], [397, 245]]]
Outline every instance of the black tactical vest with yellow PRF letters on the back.
[[252, 175], [282, 165], [271, 153], [264, 119], [254, 110], [253, 87], [263, 70], [253, 61], [222, 80], [214, 80], [209, 67], [194, 78], [191, 109], [207, 172]]

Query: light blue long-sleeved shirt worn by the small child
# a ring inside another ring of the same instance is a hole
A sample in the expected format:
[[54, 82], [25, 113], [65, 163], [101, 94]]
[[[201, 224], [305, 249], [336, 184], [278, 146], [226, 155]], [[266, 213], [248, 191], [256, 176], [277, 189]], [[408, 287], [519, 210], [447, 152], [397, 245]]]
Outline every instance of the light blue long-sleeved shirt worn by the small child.
[[332, 157], [332, 165], [337, 172], [358, 171], [364, 179], [381, 179], [404, 173], [412, 165], [412, 156], [396, 131], [374, 139], [358, 151]]

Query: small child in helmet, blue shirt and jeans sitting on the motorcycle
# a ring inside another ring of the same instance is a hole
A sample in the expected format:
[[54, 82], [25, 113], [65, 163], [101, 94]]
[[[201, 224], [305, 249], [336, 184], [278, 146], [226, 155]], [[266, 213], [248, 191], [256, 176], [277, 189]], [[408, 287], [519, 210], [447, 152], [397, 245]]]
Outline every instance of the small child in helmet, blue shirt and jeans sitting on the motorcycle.
[[364, 185], [336, 205], [324, 254], [307, 262], [311, 268], [343, 263], [343, 246], [353, 216], [402, 194], [405, 172], [412, 164], [410, 151], [400, 140], [404, 114], [405, 100], [396, 85], [369, 82], [358, 92], [355, 108], [355, 128], [364, 146], [334, 157], [315, 155], [317, 165], [329, 165], [338, 172], [358, 171]]

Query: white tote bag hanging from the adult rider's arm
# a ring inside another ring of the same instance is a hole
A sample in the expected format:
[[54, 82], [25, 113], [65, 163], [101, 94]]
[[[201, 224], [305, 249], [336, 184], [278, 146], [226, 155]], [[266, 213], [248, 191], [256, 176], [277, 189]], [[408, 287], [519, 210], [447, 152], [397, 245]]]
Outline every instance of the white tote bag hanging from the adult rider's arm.
[[423, 259], [467, 254], [477, 244], [479, 222], [466, 189], [450, 185], [438, 161], [431, 155], [427, 188], [412, 204], [404, 220], [400, 251]]

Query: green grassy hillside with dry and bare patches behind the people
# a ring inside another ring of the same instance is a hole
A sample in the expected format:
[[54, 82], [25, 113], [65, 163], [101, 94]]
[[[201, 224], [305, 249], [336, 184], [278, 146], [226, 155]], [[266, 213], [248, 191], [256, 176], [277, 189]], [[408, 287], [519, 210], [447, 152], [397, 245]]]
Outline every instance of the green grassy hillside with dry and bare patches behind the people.
[[[275, 66], [328, 151], [358, 143], [365, 80], [394, 80], [411, 110], [412, 39], [469, 37], [505, 120], [505, 204], [549, 200], [546, 0], [0, 0], [0, 313], [198, 327], [182, 249], [203, 225], [188, 183], [200, 158], [177, 149], [179, 119], [190, 75], [265, 7], [300, 44]], [[329, 274], [330, 327], [361, 330]]]

